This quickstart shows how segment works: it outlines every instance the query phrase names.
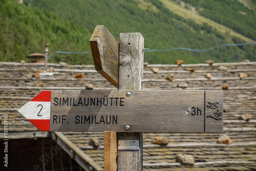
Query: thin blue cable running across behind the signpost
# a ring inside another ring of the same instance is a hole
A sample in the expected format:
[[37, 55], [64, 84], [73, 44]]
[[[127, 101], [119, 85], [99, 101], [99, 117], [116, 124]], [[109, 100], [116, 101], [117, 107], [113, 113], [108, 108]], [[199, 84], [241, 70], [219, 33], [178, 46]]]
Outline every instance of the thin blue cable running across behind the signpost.
[[[209, 49], [203, 49], [203, 50], [196, 50], [196, 49], [189, 49], [189, 48], [173, 48], [173, 49], [164, 49], [164, 50], [161, 50], [161, 49], [153, 49], [153, 50], [147, 50], [147, 51], [150, 51], [150, 52], [166, 52], [166, 51], [172, 51], [172, 50], [187, 50], [187, 51], [193, 51], [193, 52], [206, 52], [206, 51], [210, 51], [210, 50], [213, 50], [213, 49], [216, 49], [216, 48], [219, 48], [219, 47], [222, 47], [222, 46], [244, 46], [244, 45], [255, 45], [256, 42], [247, 42], [247, 43], [244, 43], [244, 44], [221, 44], [221, 45], [218, 45], [218, 46], [215, 46], [215, 47], [212, 47], [212, 48], [209, 48]], [[50, 56], [52, 57], [55, 53], [60, 53], [60, 54], [90, 54], [92, 52], [61, 52], [61, 51], [56, 51], [56, 52], [53, 52]]]

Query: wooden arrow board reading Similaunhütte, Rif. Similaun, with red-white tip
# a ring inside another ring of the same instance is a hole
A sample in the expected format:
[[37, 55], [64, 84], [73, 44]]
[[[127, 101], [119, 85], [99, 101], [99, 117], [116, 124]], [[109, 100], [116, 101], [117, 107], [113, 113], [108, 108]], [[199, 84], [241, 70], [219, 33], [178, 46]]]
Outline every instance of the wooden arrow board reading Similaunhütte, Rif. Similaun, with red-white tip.
[[223, 133], [223, 91], [42, 91], [18, 112], [41, 131]]

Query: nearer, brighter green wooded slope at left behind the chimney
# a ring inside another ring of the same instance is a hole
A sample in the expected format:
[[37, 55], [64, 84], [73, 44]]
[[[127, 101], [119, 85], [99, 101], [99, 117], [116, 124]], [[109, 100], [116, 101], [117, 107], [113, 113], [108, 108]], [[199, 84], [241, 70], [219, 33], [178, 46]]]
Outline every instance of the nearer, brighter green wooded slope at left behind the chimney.
[[[42, 53], [45, 44], [54, 51], [90, 51], [90, 34], [84, 26], [60, 18], [46, 9], [0, 1], [0, 61], [16, 61]], [[28, 59], [26, 59], [29, 61]], [[91, 55], [57, 54], [50, 62], [92, 63]]]

